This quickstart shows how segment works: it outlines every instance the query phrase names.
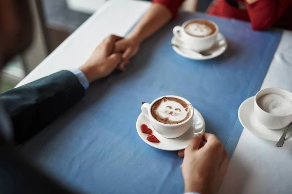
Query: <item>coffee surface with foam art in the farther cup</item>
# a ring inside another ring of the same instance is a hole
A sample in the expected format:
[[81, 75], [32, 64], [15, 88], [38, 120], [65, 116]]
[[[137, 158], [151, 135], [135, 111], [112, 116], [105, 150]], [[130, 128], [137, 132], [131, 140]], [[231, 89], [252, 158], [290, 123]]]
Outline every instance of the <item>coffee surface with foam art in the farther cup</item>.
[[196, 37], [206, 37], [216, 32], [216, 26], [208, 20], [195, 20], [184, 27], [184, 31]]

